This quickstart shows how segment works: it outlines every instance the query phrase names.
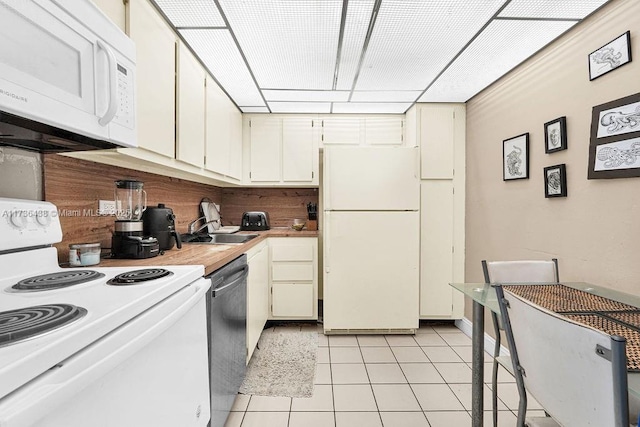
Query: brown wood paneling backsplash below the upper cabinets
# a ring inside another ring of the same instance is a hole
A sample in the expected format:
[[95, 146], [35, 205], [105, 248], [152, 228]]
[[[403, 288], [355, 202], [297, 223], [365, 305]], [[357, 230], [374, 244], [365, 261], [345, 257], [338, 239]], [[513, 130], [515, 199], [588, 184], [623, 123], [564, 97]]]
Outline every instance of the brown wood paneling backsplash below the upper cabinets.
[[140, 172], [133, 169], [73, 159], [58, 154], [44, 155], [44, 199], [60, 212], [62, 242], [57, 244], [59, 259], [68, 261], [69, 244], [100, 242], [111, 246], [114, 216], [98, 215], [99, 200], [113, 200], [114, 181], [135, 179], [144, 182], [147, 203], [164, 203], [176, 215], [176, 229], [200, 215], [200, 200], [208, 197], [221, 204], [224, 225], [239, 225], [242, 212], [269, 212], [272, 227], [289, 226], [293, 218], [306, 218], [306, 204], [318, 202], [317, 189], [302, 188], [220, 188]]

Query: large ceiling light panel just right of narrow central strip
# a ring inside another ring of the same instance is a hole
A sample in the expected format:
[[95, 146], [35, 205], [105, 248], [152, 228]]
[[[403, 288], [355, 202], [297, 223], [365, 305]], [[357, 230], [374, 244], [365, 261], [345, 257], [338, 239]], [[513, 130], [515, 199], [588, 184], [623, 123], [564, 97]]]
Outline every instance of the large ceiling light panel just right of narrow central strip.
[[382, 2], [356, 90], [424, 90], [504, 0]]

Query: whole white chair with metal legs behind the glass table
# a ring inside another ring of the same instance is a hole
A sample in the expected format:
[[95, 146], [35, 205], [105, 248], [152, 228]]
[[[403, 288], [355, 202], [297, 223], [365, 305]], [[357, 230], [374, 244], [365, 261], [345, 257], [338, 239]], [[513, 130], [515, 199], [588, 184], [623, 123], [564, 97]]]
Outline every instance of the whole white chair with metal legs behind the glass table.
[[[486, 261], [482, 260], [482, 271], [486, 283], [544, 283], [558, 282], [558, 260], [551, 261]], [[501, 321], [496, 313], [491, 312], [496, 343], [493, 350], [493, 372], [491, 377], [491, 396], [493, 409], [493, 426], [498, 425], [498, 356], [500, 356]], [[527, 393], [521, 384], [518, 385], [520, 394], [519, 407], [527, 405]]]

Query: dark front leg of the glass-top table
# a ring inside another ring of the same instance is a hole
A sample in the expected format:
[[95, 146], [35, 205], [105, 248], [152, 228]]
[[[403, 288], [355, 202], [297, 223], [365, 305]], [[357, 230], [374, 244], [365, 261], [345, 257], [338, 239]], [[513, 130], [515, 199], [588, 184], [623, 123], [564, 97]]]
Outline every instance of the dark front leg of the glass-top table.
[[471, 425], [472, 427], [483, 427], [484, 306], [476, 301], [473, 301], [471, 345]]

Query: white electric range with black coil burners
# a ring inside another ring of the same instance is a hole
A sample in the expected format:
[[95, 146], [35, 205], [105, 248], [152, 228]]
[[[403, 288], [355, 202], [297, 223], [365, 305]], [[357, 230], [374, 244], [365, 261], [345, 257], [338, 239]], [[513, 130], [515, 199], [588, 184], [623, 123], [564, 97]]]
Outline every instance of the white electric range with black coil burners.
[[203, 266], [60, 268], [56, 207], [0, 198], [0, 425], [205, 426]]

